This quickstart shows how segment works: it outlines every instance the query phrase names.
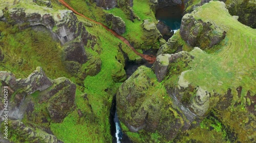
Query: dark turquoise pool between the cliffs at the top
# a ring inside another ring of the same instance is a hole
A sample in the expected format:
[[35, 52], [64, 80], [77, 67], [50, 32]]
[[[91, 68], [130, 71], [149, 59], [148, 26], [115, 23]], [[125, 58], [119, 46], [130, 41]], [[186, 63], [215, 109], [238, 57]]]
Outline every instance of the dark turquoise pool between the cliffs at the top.
[[169, 26], [170, 30], [178, 30], [180, 28], [183, 10], [181, 6], [168, 6], [156, 11], [156, 18]]

